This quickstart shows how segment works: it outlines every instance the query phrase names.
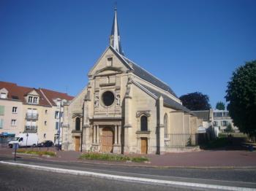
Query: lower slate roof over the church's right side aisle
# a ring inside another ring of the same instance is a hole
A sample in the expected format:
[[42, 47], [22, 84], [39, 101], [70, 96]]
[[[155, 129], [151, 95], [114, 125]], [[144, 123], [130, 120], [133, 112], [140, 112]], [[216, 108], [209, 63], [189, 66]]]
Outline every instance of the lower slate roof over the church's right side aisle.
[[[140, 84], [140, 83], [138, 82], [138, 84]], [[154, 90], [151, 87], [148, 87], [147, 85], [143, 85], [143, 84], [140, 84], [140, 85], [145, 87], [146, 90], [148, 90], [150, 93], [156, 95], [157, 98], [159, 98], [162, 95], [162, 98], [164, 99], [164, 104], [166, 104], [167, 106], [170, 106], [173, 109], [177, 109], [177, 110], [187, 112], [189, 114], [193, 114], [189, 109], [187, 109], [187, 107], [182, 106], [178, 102], [174, 101], [172, 98], [169, 98], [167, 95], [165, 95], [163, 93], [160, 93], [159, 91]]]

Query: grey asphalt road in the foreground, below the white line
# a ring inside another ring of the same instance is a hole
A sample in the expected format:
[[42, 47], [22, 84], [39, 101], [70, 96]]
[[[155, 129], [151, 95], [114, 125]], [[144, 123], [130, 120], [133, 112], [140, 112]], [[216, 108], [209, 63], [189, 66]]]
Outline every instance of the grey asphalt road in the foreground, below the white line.
[[[96, 179], [88, 176], [55, 174], [0, 165], [0, 190], [189, 190], [177, 187], [163, 187], [151, 184], [118, 182], [108, 179]], [[191, 190], [191, 189], [190, 189]]]

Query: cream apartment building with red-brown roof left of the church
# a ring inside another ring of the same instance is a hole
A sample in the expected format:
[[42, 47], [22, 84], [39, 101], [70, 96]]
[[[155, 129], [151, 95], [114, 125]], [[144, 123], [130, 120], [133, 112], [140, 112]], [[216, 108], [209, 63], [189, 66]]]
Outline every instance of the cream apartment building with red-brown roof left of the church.
[[39, 141], [58, 140], [63, 104], [72, 98], [67, 93], [0, 82], [0, 137], [37, 133]]

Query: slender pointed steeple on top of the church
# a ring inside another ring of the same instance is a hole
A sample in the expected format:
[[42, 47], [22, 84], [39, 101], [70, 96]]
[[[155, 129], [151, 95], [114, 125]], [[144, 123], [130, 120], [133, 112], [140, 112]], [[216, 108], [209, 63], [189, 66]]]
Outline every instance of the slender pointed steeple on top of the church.
[[113, 19], [112, 30], [110, 34], [110, 46], [113, 47], [121, 55], [124, 55], [124, 52], [121, 50], [121, 42], [119, 36], [119, 28], [117, 23], [117, 9], [115, 7], [115, 15]]

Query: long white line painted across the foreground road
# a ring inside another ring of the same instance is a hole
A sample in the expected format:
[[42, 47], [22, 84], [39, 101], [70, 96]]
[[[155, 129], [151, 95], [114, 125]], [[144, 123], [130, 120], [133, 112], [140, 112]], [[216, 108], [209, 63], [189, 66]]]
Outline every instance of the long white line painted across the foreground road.
[[150, 183], [150, 184], [159, 184], [159, 185], [165, 185], [165, 186], [176, 185], [176, 186], [183, 186], [183, 187], [198, 187], [198, 188], [216, 189], [216, 190], [237, 190], [237, 191], [254, 190], [256, 191], [256, 189], [254, 188], [246, 188], [246, 187], [229, 187], [229, 186], [222, 186], [222, 185], [215, 185], [215, 184], [200, 184], [200, 183], [192, 183], [192, 182], [177, 182], [177, 181], [169, 181], [169, 180], [147, 179], [147, 178], [139, 178], [139, 177], [132, 177], [132, 176], [119, 176], [119, 175], [113, 175], [113, 174], [102, 174], [102, 173], [94, 173], [90, 171], [78, 171], [78, 170], [72, 170], [72, 169], [53, 168], [53, 167], [42, 166], [42, 165], [28, 165], [23, 163], [12, 163], [12, 162], [5, 162], [5, 161], [0, 161], [0, 163], [5, 165], [22, 166], [22, 167], [31, 168], [31, 169], [50, 171], [50, 172], [56, 172], [56, 173], [62, 173], [62, 174], [91, 176], [91, 177], [113, 179], [113, 180], [127, 181], [127, 182]]

